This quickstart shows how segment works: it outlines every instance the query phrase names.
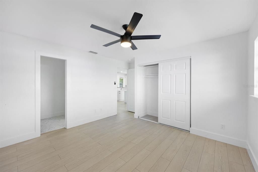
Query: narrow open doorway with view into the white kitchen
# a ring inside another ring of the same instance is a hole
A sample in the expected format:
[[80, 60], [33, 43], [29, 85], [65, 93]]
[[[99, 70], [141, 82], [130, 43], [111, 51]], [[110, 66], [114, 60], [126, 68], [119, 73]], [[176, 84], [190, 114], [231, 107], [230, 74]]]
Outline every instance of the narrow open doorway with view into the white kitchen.
[[117, 114], [127, 111], [127, 69], [117, 68]]

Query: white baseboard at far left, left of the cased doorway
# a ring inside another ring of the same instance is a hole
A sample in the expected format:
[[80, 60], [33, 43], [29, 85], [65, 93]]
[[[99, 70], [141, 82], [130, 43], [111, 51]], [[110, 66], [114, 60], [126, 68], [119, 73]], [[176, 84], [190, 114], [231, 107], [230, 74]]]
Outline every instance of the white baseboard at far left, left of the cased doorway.
[[[39, 135], [40, 136], [40, 135]], [[20, 143], [29, 139], [33, 139], [36, 137], [39, 137], [36, 135], [36, 132], [31, 132], [25, 135], [20, 135], [20, 136], [15, 136], [15, 137], [11, 137], [11, 138], [7, 138], [4, 140], [0, 141], [0, 148], [1, 147], [5, 147], [5, 146], [10, 146], [16, 143]]]

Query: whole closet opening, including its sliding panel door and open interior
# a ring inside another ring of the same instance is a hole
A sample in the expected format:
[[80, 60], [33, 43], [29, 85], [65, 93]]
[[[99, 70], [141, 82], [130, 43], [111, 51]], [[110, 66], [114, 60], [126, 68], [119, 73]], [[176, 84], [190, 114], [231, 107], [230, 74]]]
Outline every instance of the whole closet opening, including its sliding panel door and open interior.
[[190, 131], [191, 57], [139, 64], [135, 118]]

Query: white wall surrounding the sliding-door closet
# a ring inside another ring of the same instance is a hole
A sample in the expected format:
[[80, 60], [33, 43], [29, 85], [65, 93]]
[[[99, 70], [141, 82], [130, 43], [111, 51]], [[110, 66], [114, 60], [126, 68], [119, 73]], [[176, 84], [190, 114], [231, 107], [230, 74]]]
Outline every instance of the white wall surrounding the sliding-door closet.
[[[157, 54], [135, 57], [138, 64], [191, 56], [190, 132], [246, 147], [247, 32], [225, 36]], [[135, 86], [139, 80], [135, 80]], [[135, 87], [135, 113], [145, 106]], [[225, 129], [220, 129], [220, 124]]]

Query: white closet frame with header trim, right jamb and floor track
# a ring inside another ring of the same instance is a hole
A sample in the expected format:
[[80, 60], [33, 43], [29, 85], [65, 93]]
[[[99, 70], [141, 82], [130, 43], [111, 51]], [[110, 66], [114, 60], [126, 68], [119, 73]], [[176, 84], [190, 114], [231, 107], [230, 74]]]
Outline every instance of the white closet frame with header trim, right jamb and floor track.
[[[154, 61], [154, 62], [148, 62], [148, 63], [138, 64], [137, 66], [143, 67], [143, 66], [148, 66], [148, 65], [159, 64], [159, 63], [162, 63], [162, 62], [170, 62], [170, 61], [177, 61], [177, 60], [184, 60], [184, 59], [189, 59], [189, 120], [190, 120], [189, 130], [190, 130], [190, 128], [191, 128], [191, 56], [168, 59], [168, 60], [160, 60], [160, 61]], [[159, 85], [158, 85], [158, 89], [159, 89]], [[158, 98], [159, 98], [159, 95], [158, 95]], [[139, 115], [138, 115], [138, 118], [139, 118]], [[141, 118], [141, 119], [143, 119], [143, 118]], [[143, 119], [143, 120], [145, 120], [145, 119]], [[158, 123], [158, 124], [162, 124], [162, 123]], [[162, 125], [165, 125], [165, 124], [162, 124]], [[167, 126], [167, 125], [165, 125], [165, 126]], [[173, 127], [173, 126], [170, 126], [170, 127]], [[173, 127], [173, 128], [176, 128], [176, 127]], [[180, 128], [177, 128], [177, 129], [180, 129]], [[180, 129], [180, 130], [184, 130], [184, 129]], [[184, 130], [184, 131], [188, 131], [188, 130]]]

